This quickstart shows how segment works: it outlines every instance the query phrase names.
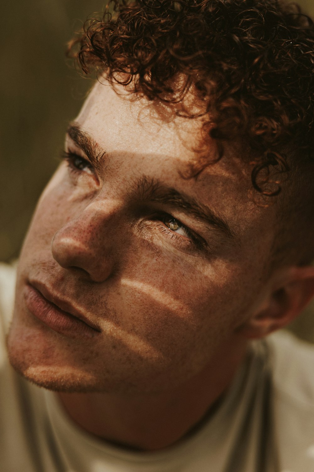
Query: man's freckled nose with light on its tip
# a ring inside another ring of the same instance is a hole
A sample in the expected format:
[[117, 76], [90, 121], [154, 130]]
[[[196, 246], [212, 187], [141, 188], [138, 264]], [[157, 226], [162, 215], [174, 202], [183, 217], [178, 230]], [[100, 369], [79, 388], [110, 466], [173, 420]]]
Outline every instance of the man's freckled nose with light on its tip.
[[51, 251], [64, 269], [79, 270], [94, 282], [103, 282], [113, 271], [113, 206], [90, 203], [53, 237]]

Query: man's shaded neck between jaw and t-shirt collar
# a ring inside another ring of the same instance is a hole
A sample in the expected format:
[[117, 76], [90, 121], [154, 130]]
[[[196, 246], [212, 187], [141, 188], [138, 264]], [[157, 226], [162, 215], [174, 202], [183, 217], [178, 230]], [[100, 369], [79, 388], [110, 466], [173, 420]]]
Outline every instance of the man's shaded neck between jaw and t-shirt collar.
[[[153, 451], [183, 438], [206, 415], [233, 380], [246, 352], [237, 343], [217, 352], [193, 378], [176, 389], [151, 395], [58, 393], [81, 428], [106, 441]], [[231, 354], [232, 353], [232, 354]]]

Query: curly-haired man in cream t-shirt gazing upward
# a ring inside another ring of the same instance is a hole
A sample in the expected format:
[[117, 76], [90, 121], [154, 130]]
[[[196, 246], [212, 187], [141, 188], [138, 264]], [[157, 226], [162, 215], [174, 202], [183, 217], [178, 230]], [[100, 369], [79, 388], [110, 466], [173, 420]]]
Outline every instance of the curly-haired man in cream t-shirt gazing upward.
[[267, 337], [314, 295], [313, 23], [113, 13], [20, 256], [1, 470], [313, 471], [314, 350]]

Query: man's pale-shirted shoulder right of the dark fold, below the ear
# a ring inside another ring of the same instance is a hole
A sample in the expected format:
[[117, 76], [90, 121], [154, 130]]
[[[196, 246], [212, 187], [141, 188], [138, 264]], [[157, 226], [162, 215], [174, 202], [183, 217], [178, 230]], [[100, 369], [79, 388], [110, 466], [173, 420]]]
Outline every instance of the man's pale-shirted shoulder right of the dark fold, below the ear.
[[274, 430], [283, 470], [314, 470], [314, 346], [282, 331], [266, 339]]

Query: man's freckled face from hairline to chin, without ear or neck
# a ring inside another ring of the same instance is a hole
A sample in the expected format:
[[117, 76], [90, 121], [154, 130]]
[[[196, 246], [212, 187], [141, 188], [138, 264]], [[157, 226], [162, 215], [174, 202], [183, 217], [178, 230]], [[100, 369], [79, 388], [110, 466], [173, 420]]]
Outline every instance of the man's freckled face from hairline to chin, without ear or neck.
[[[241, 336], [274, 210], [249, 200], [250, 169], [230, 150], [198, 180], [184, 177], [200, 127], [95, 85], [21, 253], [8, 351], [26, 377], [56, 389], [159, 391]], [[64, 315], [63, 325], [40, 293], [87, 324]]]

